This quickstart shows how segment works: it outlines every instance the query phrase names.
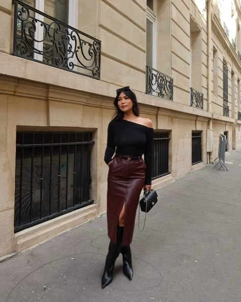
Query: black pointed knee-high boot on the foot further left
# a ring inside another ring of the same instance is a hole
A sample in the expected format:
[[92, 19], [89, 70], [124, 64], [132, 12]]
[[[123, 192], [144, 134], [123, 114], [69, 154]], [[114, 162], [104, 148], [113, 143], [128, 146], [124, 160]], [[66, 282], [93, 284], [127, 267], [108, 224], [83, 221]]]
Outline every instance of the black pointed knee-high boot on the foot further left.
[[119, 256], [122, 248], [123, 231], [124, 227], [117, 226], [116, 244], [110, 241], [105, 268], [101, 279], [102, 288], [109, 285], [113, 279], [115, 260]]

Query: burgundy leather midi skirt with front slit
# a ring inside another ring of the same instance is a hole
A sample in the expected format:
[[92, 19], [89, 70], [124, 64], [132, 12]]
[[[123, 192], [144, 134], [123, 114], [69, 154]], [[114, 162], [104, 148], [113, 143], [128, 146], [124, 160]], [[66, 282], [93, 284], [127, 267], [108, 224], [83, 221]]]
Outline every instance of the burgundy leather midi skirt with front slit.
[[125, 227], [122, 245], [132, 241], [139, 197], [145, 185], [146, 166], [142, 158], [120, 159], [114, 156], [109, 164], [107, 189], [107, 227], [110, 240], [116, 243], [119, 214], [125, 204]]

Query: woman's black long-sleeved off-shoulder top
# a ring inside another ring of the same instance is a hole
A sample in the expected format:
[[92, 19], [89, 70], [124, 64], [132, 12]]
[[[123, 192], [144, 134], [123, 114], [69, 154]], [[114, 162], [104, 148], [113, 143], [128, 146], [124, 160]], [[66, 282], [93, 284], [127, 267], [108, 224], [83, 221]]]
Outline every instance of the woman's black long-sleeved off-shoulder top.
[[146, 164], [145, 184], [152, 183], [154, 129], [122, 119], [114, 119], [108, 125], [105, 162], [108, 164], [114, 153], [142, 156]]

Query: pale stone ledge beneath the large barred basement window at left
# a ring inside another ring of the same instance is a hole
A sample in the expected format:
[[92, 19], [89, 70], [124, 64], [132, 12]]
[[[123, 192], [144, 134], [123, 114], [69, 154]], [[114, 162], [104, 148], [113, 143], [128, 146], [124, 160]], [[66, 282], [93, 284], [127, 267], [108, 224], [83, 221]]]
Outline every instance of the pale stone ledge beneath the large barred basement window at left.
[[77, 227], [97, 216], [97, 205], [92, 204], [51, 219], [15, 234], [16, 251], [20, 252]]

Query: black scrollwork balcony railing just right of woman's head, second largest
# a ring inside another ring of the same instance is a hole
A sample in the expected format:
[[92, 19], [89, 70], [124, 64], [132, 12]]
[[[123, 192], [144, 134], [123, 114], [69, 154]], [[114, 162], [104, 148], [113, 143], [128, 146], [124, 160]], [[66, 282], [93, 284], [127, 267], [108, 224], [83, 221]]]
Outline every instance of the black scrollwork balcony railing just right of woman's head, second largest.
[[146, 93], [173, 100], [173, 78], [146, 66]]

